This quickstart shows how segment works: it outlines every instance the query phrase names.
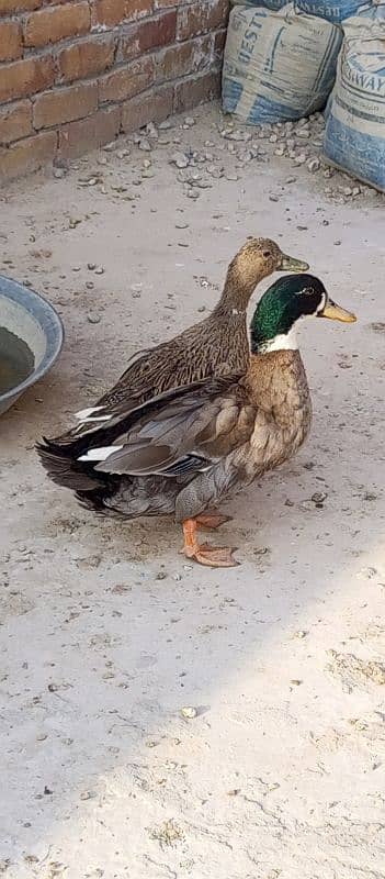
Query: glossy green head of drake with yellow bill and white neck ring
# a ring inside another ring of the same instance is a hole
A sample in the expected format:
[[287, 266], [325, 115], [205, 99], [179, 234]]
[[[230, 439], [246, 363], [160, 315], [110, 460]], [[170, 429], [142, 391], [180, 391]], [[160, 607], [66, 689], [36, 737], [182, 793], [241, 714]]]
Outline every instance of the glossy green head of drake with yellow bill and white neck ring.
[[285, 275], [262, 296], [251, 321], [254, 354], [297, 348], [295, 325], [301, 318], [329, 318], [353, 323], [356, 318], [330, 299], [314, 275]]

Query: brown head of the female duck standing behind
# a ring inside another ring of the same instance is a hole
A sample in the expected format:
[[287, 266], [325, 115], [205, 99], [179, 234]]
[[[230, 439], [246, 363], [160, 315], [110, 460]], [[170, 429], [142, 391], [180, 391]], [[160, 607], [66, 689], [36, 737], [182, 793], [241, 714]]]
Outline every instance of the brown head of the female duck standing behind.
[[308, 264], [282, 253], [271, 238], [248, 238], [231, 260], [225, 286], [226, 299], [247, 305], [253, 290], [273, 271], [307, 271]]

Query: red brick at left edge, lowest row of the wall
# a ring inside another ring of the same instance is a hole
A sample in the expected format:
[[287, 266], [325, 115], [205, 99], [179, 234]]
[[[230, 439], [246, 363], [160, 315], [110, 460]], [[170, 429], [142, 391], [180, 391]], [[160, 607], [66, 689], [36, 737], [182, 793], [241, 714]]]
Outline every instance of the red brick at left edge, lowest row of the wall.
[[45, 131], [43, 134], [19, 141], [8, 149], [0, 149], [0, 178], [9, 180], [38, 170], [54, 158], [56, 146], [56, 132]]

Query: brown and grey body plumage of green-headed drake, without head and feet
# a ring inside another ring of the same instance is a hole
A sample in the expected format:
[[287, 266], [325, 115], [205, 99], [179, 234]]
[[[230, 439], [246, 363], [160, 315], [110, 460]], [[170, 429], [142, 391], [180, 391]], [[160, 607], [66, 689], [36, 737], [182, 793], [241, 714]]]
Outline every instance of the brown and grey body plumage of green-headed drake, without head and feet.
[[105, 461], [78, 458], [87, 437], [41, 450], [54, 481], [91, 509], [125, 518], [174, 513], [180, 522], [276, 467], [303, 443], [310, 424], [298, 352], [252, 356], [242, 378], [212, 378], [154, 398], [100, 427]]

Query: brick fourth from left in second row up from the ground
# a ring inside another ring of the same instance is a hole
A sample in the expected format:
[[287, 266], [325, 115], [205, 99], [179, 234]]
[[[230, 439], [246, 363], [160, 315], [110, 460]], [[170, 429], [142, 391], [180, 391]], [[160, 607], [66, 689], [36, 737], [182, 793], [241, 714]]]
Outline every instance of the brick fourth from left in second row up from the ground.
[[211, 34], [201, 40], [171, 46], [157, 58], [157, 80], [178, 79], [189, 74], [197, 74], [208, 67], [211, 60]]

